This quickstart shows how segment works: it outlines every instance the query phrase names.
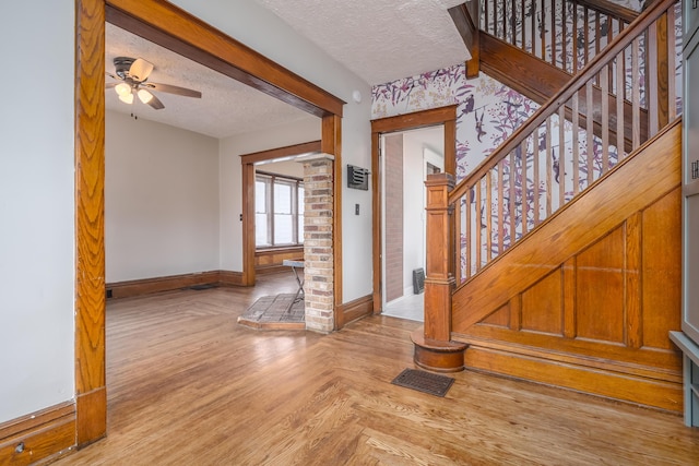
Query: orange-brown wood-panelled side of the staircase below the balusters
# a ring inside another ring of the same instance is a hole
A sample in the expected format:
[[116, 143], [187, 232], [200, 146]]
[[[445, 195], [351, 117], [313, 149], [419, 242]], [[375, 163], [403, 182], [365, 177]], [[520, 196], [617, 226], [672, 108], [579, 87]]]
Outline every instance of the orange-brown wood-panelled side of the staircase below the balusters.
[[466, 368], [682, 410], [680, 126], [453, 295]]

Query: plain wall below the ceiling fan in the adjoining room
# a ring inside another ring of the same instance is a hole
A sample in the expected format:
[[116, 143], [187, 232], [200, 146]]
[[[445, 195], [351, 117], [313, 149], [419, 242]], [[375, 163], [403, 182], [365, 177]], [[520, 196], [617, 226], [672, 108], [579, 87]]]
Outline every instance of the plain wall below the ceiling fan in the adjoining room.
[[218, 140], [105, 121], [107, 283], [218, 270]]

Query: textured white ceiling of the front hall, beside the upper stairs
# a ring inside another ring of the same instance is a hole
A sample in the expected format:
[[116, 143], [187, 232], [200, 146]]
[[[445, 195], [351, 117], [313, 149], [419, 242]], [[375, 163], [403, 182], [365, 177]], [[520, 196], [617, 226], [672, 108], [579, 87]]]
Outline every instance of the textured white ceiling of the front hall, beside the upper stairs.
[[370, 85], [471, 58], [447, 11], [464, 0], [256, 0]]

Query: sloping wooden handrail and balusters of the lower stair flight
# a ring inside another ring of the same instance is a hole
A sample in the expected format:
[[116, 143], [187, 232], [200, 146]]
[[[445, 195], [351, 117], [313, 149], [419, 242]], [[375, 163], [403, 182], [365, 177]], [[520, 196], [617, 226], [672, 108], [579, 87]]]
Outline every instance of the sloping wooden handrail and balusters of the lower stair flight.
[[577, 77], [449, 193], [453, 229], [431, 237], [455, 240], [455, 261], [449, 263], [457, 264], [457, 285], [676, 118], [675, 4], [659, 0], [615, 33]]

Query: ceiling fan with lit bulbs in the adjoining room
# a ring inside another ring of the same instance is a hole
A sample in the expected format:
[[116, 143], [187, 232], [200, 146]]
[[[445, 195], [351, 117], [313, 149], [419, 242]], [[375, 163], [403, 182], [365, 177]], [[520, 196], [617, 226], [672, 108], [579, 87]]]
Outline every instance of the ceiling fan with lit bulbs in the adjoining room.
[[114, 65], [115, 74], [107, 73], [107, 75], [117, 82], [107, 83], [106, 87], [114, 88], [119, 95], [119, 99], [126, 104], [133, 104], [134, 96], [138, 96], [139, 100], [156, 110], [165, 108], [152, 91], [201, 98], [199, 91], [170, 84], [149, 83], [147, 79], [153, 71], [153, 63], [142, 58], [117, 57], [114, 59]]

